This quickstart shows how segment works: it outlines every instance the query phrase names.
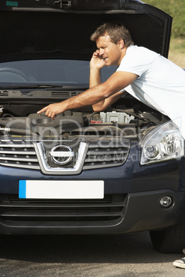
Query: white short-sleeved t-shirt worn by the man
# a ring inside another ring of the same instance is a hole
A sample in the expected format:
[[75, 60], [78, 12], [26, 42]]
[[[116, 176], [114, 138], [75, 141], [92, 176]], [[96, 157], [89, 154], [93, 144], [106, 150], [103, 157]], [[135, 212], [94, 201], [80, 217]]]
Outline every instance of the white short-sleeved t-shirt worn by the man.
[[137, 74], [137, 79], [124, 89], [166, 114], [185, 139], [185, 71], [160, 54], [137, 45], [127, 48], [117, 71]]

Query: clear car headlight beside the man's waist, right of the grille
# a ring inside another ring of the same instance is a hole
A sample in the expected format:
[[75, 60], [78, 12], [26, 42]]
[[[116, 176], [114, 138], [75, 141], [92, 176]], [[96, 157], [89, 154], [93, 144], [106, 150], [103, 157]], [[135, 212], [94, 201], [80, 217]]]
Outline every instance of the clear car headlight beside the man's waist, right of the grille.
[[184, 155], [184, 139], [173, 121], [150, 131], [142, 139], [141, 165], [180, 158]]

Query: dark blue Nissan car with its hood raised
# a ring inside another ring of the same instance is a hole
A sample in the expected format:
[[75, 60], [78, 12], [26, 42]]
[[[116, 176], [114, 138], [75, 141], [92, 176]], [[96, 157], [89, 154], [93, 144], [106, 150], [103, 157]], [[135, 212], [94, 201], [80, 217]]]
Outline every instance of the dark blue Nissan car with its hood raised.
[[104, 112], [37, 114], [88, 89], [90, 35], [107, 21], [168, 57], [172, 18], [141, 1], [1, 0], [0, 234], [147, 230], [182, 252], [184, 140], [168, 116], [126, 91]]

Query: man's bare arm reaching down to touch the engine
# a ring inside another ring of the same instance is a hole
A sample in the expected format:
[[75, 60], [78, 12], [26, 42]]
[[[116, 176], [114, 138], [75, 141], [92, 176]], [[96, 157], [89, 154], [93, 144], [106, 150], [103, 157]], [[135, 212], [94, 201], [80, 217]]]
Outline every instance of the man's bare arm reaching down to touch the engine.
[[43, 109], [39, 110], [38, 114], [46, 112], [46, 116], [54, 119], [57, 114], [65, 112], [66, 110], [94, 105], [95, 103], [99, 103], [113, 94], [116, 94], [119, 90], [126, 88], [130, 83], [133, 83], [136, 78], [137, 75], [130, 72], [115, 72], [106, 82], [96, 85], [95, 87], [61, 103], [54, 103], [43, 107]]

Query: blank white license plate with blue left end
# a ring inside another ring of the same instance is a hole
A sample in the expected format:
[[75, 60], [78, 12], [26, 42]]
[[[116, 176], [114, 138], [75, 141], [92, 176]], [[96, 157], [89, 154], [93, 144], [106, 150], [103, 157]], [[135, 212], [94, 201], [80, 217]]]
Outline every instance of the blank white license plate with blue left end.
[[102, 199], [104, 181], [20, 180], [19, 198]]

